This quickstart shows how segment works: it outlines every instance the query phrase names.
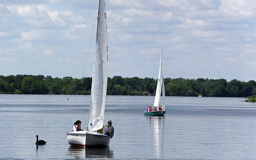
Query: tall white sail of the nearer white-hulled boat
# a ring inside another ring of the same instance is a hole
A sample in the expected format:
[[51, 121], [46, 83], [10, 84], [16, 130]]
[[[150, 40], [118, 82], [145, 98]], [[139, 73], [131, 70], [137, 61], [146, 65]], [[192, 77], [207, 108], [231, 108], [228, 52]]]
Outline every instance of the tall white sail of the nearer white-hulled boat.
[[108, 30], [105, 0], [99, 0], [97, 33], [94, 50], [88, 131], [103, 127], [108, 84]]

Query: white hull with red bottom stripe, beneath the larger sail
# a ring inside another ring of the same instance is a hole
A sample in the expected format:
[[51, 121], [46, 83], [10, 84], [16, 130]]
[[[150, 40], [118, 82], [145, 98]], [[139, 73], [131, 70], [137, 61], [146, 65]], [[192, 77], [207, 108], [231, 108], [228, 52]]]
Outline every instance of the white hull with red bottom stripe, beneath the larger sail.
[[67, 133], [68, 144], [71, 146], [106, 147], [111, 137], [97, 132], [78, 131]]

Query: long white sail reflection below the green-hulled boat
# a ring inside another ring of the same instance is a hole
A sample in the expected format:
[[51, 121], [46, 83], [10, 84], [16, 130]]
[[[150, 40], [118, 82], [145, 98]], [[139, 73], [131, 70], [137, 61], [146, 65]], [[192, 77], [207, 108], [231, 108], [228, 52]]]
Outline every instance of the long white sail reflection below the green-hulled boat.
[[153, 138], [154, 138], [154, 153], [156, 158], [163, 156], [163, 145], [164, 145], [164, 116], [148, 116], [148, 130], [151, 128], [153, 123]]

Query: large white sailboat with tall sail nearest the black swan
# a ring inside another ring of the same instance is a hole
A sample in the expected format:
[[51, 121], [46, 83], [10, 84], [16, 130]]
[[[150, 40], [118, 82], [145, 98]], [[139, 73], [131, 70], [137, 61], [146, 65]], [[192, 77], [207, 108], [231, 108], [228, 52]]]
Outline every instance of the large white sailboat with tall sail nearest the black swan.
[[71, 146], [105, 147], [111, 137], [96, 132], [103, 127], [108, 84], [108, 28], [105, 0], [99, 0], [94, 49], [92, 88], [87, 131], [68, 132]]

